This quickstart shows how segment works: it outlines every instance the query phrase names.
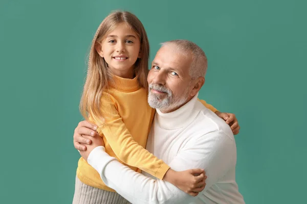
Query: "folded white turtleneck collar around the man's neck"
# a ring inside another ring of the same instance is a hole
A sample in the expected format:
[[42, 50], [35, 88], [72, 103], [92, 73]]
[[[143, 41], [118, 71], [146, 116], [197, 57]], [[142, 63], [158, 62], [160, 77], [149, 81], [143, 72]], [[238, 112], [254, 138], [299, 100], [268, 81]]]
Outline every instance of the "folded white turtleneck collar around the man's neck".
[[155, 122], [158, 122], [160, 127], [167, 130], [174, 130], [184, 127], [185, 124], [191, 123], [200, 112], [199, 108], [195, 109], [198, 101], [198, 93], [188, 101], [185, 105], [170, 113], [162, 113], [159, 109], [155, 116]]

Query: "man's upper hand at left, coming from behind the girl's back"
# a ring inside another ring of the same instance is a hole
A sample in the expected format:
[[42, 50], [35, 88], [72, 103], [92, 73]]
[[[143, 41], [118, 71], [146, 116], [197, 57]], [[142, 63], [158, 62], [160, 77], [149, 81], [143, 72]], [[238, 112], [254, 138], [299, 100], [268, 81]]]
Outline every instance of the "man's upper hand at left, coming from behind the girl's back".
[[[79, 151], [86, 150], [86, 146], [84, 144], [91, 144], [92, 138], [97, 137], [99, 134], [96, 132], [97, 126], [95, 124], [90, 123], [89, 121], [81, 121], [74, 132], [74, 146]], [[89, 137], [84, 137], [89, 136]]]

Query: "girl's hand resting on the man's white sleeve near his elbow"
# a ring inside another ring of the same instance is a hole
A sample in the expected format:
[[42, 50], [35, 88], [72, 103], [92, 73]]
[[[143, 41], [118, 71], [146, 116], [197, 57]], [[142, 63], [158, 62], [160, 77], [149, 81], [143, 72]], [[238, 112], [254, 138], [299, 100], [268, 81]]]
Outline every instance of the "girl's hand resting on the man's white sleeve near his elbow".
[[196, 196], [203, 191], [207, 179], [204, 169], [189, 169], [186, 171], [174, 171], [169, 169], [163, 180], [177, 186], [180, 190], [191, 196]]

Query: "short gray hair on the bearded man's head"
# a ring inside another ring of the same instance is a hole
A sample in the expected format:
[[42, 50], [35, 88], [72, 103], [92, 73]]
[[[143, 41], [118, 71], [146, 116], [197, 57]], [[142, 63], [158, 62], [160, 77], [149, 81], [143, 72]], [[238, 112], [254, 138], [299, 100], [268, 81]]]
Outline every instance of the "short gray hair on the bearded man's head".
[[207, 57], [202, 48], [189, 40], [171, 40], [161, 43], [161, 47], [165, 45], [174, 45], [175, 49], [183, 54], [192, 54], [192, 63], [189, 70], [190, 77], [196, 79], [205, 77], [208, 62]]

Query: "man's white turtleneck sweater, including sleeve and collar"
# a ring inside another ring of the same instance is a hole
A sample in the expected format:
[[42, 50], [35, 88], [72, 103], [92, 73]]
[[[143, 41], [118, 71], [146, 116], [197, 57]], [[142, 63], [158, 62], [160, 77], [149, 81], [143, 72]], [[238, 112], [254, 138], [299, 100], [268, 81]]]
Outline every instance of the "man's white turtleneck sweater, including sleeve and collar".
[[245, 203], [235, 182], [236, 145], [228, 124], [197, 100], [171, 113], [157, 110], [146, 149], [173, 170], [205, 169], [205, 189], [192, 197], [150, 174], [131, 170], [98, 146], [87, 162], [131, 203]]

